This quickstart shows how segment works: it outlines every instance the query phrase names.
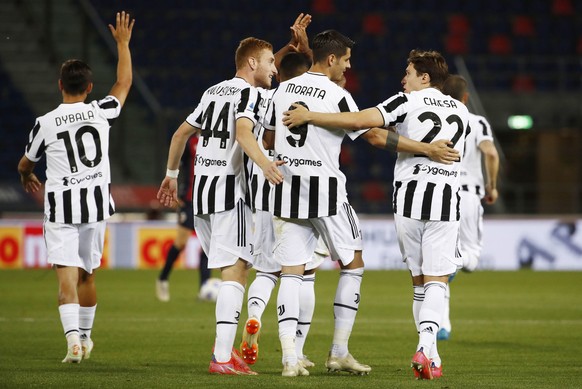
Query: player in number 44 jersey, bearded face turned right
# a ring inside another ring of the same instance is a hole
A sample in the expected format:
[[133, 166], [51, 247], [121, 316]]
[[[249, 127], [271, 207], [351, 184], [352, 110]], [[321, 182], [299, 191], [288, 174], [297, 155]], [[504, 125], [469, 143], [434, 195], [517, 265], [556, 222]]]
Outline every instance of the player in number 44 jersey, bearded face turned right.
[[252, 162], [269, 182], [278, 184], [283, 179], [278, 168], [283, 162], [269, 160], [253, 134], [261, 101], [257, 87], [269, 88], [277, 74], [273, 47], [257, 38], [243, 39], [235, 62], [234, 78], [208, 88], [174, 133], [168, 170], [158, 192], [158, 199], [165, 206], [177, 201], [180, 157], [188, 138], [199, 132], [193, 186], [194, 227], [208, 255], [208, 267], [219, 268], [223, 281], [216, 301], [216, 340], [209, 372], [231, 375], [256, 374], [233, 349], [253, 260], [252, 214], [245, 202]]

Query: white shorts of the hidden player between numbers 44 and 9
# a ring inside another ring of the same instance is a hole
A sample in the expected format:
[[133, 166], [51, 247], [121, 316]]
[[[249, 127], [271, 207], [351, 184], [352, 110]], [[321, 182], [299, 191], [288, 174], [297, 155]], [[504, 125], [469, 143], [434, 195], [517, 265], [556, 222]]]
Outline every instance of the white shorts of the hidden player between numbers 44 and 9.
[[[257, 209], [253, 217], [255, 234], [253, 267], [264, 273], [279, 272], [281, 264], [275, 259], [273, 253], [273, 247], [275, 247], [273, 215], [270, 212]], [[305, 270], [316, 269], [328, 256], [329, 251], [320, 237], [311, 260], [305, 265]]]

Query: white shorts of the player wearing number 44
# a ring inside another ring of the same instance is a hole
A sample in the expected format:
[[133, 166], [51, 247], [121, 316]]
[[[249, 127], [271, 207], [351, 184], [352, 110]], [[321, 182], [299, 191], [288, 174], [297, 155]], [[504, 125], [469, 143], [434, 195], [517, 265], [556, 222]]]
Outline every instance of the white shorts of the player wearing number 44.
[[208, 268], [231, 266], [240, 258], [253, 263], [252, 212], [239, 200], [233, 209], [208, 215], [194, 215], [194, 228], [208, 256]]

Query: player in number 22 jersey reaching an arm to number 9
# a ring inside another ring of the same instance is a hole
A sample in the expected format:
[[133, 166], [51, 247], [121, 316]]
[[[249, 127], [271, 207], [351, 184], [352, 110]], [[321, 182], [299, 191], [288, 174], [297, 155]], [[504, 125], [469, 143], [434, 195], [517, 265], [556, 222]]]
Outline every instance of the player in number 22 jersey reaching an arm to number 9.
[[[419, 341], [412, 358], [417, 378], [432, 379], [442, 374], [436, 347], [436, 333], [445, 304], [449, 275], [461, 265], [456, 255], [459, 233], [460, 161], [443, 165], [416, 153], [404, 152], [400, 142], [431, 143], [450, 140], [463, 156], [469, 132], [464, 104], [443, 95], [440, 89], [448, 76], [448, 66], [436, 51], [412, 50], [402, 79], [404, 93], [398, 93], [376, 107], [360, 112], [329, 114], [307, 111], [294, 104], [285, 112], [284, 124], [294, 133], [303, 133], [306, 123], [317, 128], [362, 129], [395, 126], [387, 147], [399, 151], [394, 173], [394, 221], [400, 250], [414, 288], [413, 316]], [[307, 93], [308, 90], [306, 90]], [[311, 133], [312, 127], [305, 133]]]

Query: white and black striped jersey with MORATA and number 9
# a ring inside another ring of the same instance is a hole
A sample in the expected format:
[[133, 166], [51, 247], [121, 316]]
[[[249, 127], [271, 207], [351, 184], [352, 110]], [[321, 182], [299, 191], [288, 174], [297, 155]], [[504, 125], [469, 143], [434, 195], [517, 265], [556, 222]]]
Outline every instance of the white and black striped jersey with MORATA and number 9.
[[346, 177], [339, 168], [344, 136], [357, 138], [365, 131], [346, 131], [303, 125], [288, 129], [283, 112], [299, 103], [309, 110], [338, 113], [357, 111], [352, 96], [326, 75], [307, 72], [281, 83], [267, 109], [268, 130], [275, 130], [275, 155], [286, 162], [280, 166], [282, 184], [275, 186], [273, 214], [308, 219], [331, 216], [347, 203]]

